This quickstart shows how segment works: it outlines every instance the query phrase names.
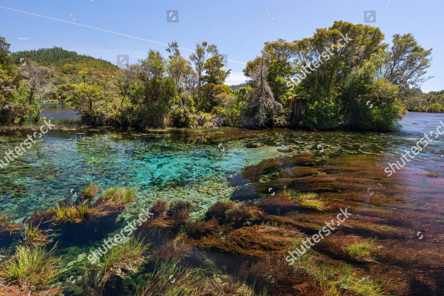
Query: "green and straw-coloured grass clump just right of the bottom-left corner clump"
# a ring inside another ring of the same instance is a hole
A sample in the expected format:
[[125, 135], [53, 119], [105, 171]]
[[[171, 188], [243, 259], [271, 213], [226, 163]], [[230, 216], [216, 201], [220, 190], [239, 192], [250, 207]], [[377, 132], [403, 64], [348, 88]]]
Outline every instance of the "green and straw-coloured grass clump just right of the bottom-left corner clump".
[[87, 261], [82, 267], [83, 295], [104, 295], [108, 283], [118, 278], [127, 278], [131, 272], [137, 272], [145, 261], [143, 255], [148, 246], [139, 238], [131, 237], [103, 255], [103, 262]]

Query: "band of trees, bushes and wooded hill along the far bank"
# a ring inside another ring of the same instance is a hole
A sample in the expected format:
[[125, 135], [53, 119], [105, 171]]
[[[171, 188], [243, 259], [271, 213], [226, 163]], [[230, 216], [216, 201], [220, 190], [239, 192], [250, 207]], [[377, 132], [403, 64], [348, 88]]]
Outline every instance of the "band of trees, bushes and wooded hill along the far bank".
[[392, 131], [407, 110], [442, 111], [443, 91], [418, 99], [419, 85], [430, 79], [431, 49], [412, 34], [393, 35], [391, 46], [384, 38], [379, 28], [336, 21], [309, 38], [267, 41], [243, 70], [248, 81], [232, 89], [223, 55], [206, 42], [189, 57], [172, 42], [165, 55], [150, 49], [137, 63], [116, 67], [60, 47], [11, 53], [0, 37], [0, 126], [32, 126], [55, 101], [79, 110], [82, 124], [75, 126], [142, 130]]

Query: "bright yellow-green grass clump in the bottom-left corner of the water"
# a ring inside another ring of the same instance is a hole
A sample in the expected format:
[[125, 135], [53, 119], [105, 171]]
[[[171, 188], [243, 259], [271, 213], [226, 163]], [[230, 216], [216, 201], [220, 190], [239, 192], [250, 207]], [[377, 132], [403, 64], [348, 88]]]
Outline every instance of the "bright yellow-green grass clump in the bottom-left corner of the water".
[[43, 292], [46, 293], [44, 295], [56, 295], [61, 291], [61, 288], [48, 289], [48, 284], [57, 280], [62, 272], [59, 266], [61, 257], [54, 256], [55, 248], [46, 252], [42, 247], [17, 247], [16, 253], [0, 271], [0, 280], [8, 286], [11, 295], [20, 291], [26, 294], [33, 292], [33, 295]]

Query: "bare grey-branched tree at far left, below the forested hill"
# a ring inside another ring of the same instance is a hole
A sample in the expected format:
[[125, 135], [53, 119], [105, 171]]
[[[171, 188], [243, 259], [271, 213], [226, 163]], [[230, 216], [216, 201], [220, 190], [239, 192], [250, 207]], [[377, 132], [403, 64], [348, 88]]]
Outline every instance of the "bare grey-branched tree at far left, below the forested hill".
[[29, 91], [29, 103], [32, 104], [34, 93], [48, 84], [46, 79], [50, 74], [50, 70], [47, 67], [27, 61], [26, 65], [20, 67], [20, 74], [23, 76], [23, 83]]

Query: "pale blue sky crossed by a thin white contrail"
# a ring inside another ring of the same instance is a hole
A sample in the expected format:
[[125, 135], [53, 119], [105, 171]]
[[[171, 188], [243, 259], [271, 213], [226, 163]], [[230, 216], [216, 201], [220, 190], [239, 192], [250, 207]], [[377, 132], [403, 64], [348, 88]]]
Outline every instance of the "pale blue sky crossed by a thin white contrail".
[[246, 80], [242, 70], [264, 42], [310, 37], [344, 20], [381, 28], [387, 43], [393, 34], [412, 33], [433, 48], [428, 75], [434, 77], [421, 88], [438, 91], [444, 89], [443, 10], [443, 0], [0, 0], [0, 36], [11, 51], [57, 46], [115, 64], [117, 55], [136, 63], [150, 48], [166, 56], [172, 41], [189, 56], [206, 41], [228, 55], [231, 85]]

